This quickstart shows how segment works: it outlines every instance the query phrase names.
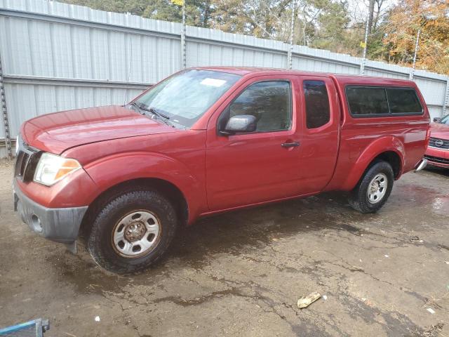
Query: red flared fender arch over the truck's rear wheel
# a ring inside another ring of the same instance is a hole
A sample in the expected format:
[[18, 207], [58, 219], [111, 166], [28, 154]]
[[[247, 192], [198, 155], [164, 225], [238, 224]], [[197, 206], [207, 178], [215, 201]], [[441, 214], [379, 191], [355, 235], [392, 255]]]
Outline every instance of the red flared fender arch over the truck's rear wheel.
[[394, 136], [384, 136], [373, 140], [357, 158], [356, 162], [347, 174], [346, 180], [342, 185], [342, 190], [352, 190], [358, 183], [358, 180], [362, 177], [370, 163], [383, 152], [394, 152], [398, 154], [401, 160], [401, 169], [396, 178], [401, 176], [404, 167], [405, 147], [401, 140]]

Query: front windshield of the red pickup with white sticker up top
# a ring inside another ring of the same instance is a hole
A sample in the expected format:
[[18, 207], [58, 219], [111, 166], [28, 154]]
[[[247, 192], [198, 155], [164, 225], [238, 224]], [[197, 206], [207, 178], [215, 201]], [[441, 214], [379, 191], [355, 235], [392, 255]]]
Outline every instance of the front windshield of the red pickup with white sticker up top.
[[239, 79], [226, 72], [186, 70], [154, 86], [135, 103], [189, 128]]

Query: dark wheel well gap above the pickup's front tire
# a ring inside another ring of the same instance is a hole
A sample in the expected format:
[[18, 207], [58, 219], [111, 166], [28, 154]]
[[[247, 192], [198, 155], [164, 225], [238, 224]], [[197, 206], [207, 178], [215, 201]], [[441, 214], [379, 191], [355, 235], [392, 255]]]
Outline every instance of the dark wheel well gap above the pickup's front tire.
[[91, 227], [95, 214], [102, 209], [105, 204], [117, 197], [119, 194], [128, 190], [156, 190], [166, 197], [175, 207], [177, 217], [182, 225], [187, 225], [189, 218], [189, 207], [184, 194], [172, 183], [167, 180], [157, 178], [139, 178], [124, 181], [102, 192], [89, 206], [86, 215], [81, 223], [80, 234], [86, 234], [86, 230]]

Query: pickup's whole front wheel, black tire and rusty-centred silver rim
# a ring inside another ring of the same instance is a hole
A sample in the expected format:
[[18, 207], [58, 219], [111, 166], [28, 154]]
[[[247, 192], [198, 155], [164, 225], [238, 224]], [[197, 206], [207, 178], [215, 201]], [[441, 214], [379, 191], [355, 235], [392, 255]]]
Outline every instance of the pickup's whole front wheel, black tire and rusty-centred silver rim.
[[165, 197], [151, 190], [127, 191], [98, 212], [87, 248], [106, 270], [137, 272], [161, 258], [176, 228], [175, 209]]

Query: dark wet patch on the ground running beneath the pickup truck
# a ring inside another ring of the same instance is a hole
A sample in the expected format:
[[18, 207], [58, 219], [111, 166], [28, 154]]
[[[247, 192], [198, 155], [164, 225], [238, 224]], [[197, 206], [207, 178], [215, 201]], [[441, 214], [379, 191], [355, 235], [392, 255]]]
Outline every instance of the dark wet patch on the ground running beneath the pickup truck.
[[430, 216], [449, 214], [448, 196], [415, 185], [394, 188], [388, 207], [377, 214], [357, 213], [350, 209], [344, 194], [326, 193], [203, 218], [192, 227], [180, 229], [166, 258], [138, 275], [119, 276], [101, 270], [83, 246], [77, 256], [65, 253], [48, 261], [56, 275], [73, 284], [79, 293], [121, 292], [129, 284], [157, 286], [177, 267], [201, 270], [217, 253], [239, 256], [247, 249], [263, 249], [274, 240], [301, 232], [330, 229], [357, 236], [373, 234], [366, 225], [380, 219], [387, 223], [394, 221], [398, 208], [401, 212], [416, 213], [417, 217], [426, 217], [429, 211]]

